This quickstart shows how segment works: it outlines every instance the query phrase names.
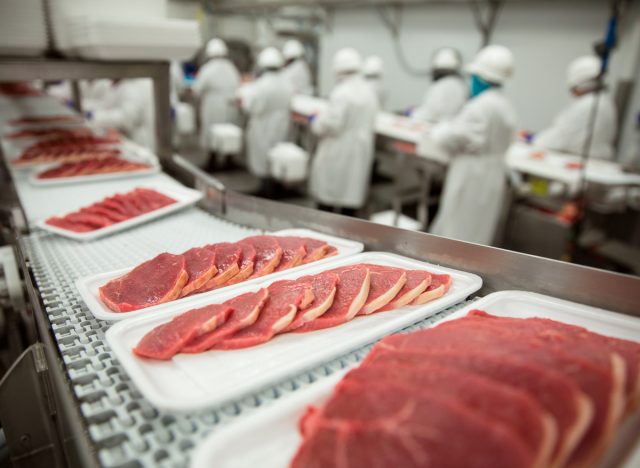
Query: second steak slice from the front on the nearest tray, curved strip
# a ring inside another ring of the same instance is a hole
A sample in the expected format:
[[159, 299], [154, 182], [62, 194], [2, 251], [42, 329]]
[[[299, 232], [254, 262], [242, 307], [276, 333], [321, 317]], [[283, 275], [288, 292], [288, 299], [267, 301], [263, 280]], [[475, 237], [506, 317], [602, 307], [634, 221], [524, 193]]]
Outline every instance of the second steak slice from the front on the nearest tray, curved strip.
[[555, 421], [528, 393], [433, 361], [413, 366], [369, 364], [349, 372], [340, 385], [350, 381], [365, 388], [393, 382], [418, 394], [428, 388], [428, 395], [451, 398], [516, 435], [534, 454], [536, 466], [547, 466], [556, 442]]

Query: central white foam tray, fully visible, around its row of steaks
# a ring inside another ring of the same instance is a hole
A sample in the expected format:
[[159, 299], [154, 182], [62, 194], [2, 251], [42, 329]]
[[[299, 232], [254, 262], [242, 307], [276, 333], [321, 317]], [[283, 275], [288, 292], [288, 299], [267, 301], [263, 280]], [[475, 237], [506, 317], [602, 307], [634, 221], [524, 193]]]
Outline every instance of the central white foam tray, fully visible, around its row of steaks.
[[295, 279], [326, 271], [329, 267], [358, 263], [447, 273], [451, 275], [453, 284], [443, 297], [424, 305], [359, 316], [349, 323], [325, 330], [285, 333], [252, 348], [179, 354], [170, 361], [139, 358], [131, 351], [147, 332], [191, 307], [222, 303], [239, 294], [267, 286], [271, 280], [238, 288], [231, 293], [212, 295], [191, 307], [176, 307], [153, 316], [119, 322], [107, 331], [107, 342], [136, 387], [154, 406], [168, 411], [196, 411], [259, 391], [376, 341], [465, 300], [482, 286], [482, 279], [477, 275], [382, 252], [354, 255], [330, 265], [310, 266], [279, 279]]

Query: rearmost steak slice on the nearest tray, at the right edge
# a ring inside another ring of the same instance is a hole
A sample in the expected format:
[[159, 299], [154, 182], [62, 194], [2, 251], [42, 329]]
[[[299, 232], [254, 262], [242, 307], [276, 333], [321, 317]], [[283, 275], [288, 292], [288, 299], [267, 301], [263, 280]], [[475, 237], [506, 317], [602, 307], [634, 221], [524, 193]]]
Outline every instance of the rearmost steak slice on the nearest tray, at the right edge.
[[[606, 354], [602, 353], [599, 346], [602, 346], [613, 353], [617, 353], [625, 362], [625, 393], [627, 395], [629, 409], [635, 406], [640, 400], [640, 344], [628, 340], [610, 338], [597, 333], [592, 333], [586, 328], [569, 325], [544, 318], [508, 319], [497, 317], [480, 310], [472, 310], [469, 315], [485, 319], [497, 319], [505, 321], [505, 324], [514, 327], [526, 327], [529, 330], [538, 332], [540, 338], [550, 341], [553, 344], [566, 344], [574, 351], [582, 355], [592, 355], [593, 359], [600, 361], [603, 365], [608, 364]], [[618, 368], [619, 372], [620, 369]]]

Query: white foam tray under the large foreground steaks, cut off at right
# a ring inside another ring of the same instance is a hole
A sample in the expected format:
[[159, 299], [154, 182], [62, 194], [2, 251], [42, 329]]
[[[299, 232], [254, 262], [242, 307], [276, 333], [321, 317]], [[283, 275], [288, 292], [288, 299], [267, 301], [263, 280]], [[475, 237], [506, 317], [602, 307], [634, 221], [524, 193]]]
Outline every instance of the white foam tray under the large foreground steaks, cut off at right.
[[[550, 318], [582, 326], [603, 335], [640, 341], [638, 318], [525, 291], [489, 294], [454, 312], [438, 324], [463, 317], [472, 309], [481, 309], [503, 317]], [[299, 390], [291, 397], [274, 403], [254, 416], [212, 433], [196, 448], [190, 467], [289, 466], [302, 441], [298, 432], [298, 421], [304, 409], [310, 404], [323, 404], [341, 377], [342, 374], [327, 377]], [[251, 441], [250, 450], [247, 449], [247, 441]], [[632, 466], [634, 465], [624, 465], [625, 468]]]

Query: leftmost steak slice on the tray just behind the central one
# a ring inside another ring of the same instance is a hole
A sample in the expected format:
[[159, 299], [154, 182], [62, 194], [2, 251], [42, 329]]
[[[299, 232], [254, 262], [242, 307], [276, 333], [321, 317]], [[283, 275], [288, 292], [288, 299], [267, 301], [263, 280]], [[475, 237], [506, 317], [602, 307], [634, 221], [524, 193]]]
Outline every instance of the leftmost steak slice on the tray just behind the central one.
[[180, 295], [189, 280], [182, 255], [163, 253], [100, 288], [100, 299], [114, 312], [130, 312]]

